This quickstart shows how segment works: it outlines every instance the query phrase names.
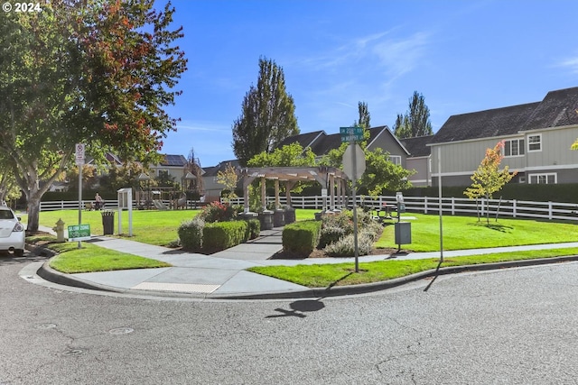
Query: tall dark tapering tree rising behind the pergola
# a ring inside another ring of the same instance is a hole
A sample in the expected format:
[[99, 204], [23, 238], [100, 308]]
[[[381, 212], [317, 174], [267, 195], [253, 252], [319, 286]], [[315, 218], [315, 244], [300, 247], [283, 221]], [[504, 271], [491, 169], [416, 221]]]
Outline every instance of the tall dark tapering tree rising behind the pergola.
[[271, 152], [286, 137], [299, 133], [293, 97], [287, 94], [283, 69], [275, 61], [259, 58], [256, 87], [249, 88], [232, 131], [233, 151], [244, 166], [256, 154]]

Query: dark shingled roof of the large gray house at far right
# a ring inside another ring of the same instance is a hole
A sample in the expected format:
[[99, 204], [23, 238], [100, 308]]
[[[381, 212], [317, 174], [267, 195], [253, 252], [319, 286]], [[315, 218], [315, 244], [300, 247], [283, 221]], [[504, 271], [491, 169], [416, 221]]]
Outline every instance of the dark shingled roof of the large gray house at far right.
[[452, 115], [432, 143], [515, 135], [539, 128], [578, 124], [578, 87], [550, 91], [541, 102]]

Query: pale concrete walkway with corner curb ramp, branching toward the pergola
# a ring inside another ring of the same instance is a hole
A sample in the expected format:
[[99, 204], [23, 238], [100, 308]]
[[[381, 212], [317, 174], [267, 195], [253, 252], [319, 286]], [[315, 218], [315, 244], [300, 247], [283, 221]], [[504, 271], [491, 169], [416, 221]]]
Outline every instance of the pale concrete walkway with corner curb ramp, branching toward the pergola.
[[[52, 233], [50, 228], [42, 231]], [[420, 276], [379, 282], [354, 287], [333, 287], [331, 289], [310, 289], [284, 280], [276, 280], [245, 269], [253, 266], [296, 265], [321, 263], [354, 263], [354, 258], [317, 258], [305, 260], [271, 260], [282, 250], [281, 229], [261, 232], [256, 240], [239, 244], [228, 250], [211, 255], [182, 252], [162, 246], [138, 243], [127, 239], [107, 236], [93, 236], [88, 242], [107, 249], [140, 255], [172, 264], [170, 268], [116, 270], [80, 274], [62, 274], [51, 270], [44, 263], [38, 270], [45, 280], [87, 289], [101, 289], [117, 292], [150, 294], [155, 296], [193, 298], [319, 298], [330, 295], [347, 295], [387, 289]], [[532, 246], [500, 247], [491, 249], [461, 250], [443, 252], [444, 258], [483, 254], [489, 252], [517, 252], [539, 249], [578, 247], [578, 243], [538, 244]], [[439, 258], [440, 252], [415, 252], [409, 254], [384, 254], [359, 257], [359, 262], [384, 260], [409, 260]], [[573, 260], [574, 257], [564, 258]], [[578, 257], [576, 257], [578, 258]], [[554, 261], [554, 260], [550, 260]], [[539, 261], [533, 261], [532, 264]], [[529, 264], [528, 261], [508, 262], [497, 267]], [[468, 267], [462, 270], [480, 269]], [[488, 267], [485, 267], [488, 269]], [[459, 269], [453, 269], [460, 271]], [[431, 275], [431, 272], [428, 274]], [[424, 275], [423, 275], [424, 276]]]

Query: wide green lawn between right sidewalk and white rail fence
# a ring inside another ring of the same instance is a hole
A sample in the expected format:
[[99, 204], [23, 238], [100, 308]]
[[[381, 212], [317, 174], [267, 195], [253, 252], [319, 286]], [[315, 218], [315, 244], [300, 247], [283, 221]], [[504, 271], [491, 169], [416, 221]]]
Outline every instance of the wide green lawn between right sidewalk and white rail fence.
[[[415, 216], [407, 220], [412, 224], [412, 243], [402, 245], [414, 252], [440, 250], [440, 221], [438, 215], [406, 214]], [[394, 223], [387, 225], [376, 247], [397, 247], [394, 243]], [[542, 222], [529, 219], [483, 219], [471, 216], [443, 216], [443, 249], [464, 250], [499, 246], [519, 246], [539, 243], [578, 242], [575, 223]]]

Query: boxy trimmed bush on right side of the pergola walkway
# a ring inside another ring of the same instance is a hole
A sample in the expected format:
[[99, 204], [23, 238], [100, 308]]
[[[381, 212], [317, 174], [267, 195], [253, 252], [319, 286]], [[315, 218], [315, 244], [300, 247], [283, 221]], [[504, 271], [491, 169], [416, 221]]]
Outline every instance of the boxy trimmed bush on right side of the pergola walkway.
[[319, 243], [320, 221], [301, 221], [285, 225], [282, 239], [285, 252], [307, 257]]

